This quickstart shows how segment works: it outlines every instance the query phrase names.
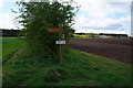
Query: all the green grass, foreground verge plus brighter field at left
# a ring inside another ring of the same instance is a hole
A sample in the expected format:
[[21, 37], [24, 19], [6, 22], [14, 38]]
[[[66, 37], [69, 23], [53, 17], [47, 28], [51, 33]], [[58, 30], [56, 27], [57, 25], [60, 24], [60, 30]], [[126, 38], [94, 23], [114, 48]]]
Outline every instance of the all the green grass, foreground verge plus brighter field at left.
[[3, 65], [3, 86], [132, 85], [127, 64], [64, 46], [61, 66], [58, 57], [39, 57], [21, 44], [19, 38], [3, 38], [3, 59], [14, 53]]

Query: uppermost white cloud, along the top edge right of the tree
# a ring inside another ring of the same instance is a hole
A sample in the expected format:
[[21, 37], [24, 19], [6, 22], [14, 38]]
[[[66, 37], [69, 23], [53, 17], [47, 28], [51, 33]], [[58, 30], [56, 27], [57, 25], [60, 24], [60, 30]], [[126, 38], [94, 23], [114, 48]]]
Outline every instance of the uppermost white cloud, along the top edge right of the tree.
[[113, 13], [129, 13], [130, 2], [108, 2], [99, 0], [96, 2], [90, 0], [76, 0], [81, 6], [80, 10], [93, 18], [104, 18]]

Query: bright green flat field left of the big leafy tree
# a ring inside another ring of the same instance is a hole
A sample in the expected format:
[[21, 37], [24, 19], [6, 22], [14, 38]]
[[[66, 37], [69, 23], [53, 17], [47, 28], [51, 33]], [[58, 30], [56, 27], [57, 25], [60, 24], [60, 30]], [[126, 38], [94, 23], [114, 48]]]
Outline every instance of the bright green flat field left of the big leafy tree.
[[21, 44], [22, 42], [18, 37], [2, 37], [2, 62], [8, 61]]

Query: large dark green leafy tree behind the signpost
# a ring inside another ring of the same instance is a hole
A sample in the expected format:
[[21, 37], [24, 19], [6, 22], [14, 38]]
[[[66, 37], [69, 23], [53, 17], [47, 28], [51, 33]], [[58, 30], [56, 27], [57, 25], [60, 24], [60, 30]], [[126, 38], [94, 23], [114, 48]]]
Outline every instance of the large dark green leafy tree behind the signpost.
[[58, 53], [59, 33], [49, 33], [48, 29], [71, 29], [74, 24], [74, 15], [78, 8], [71, 2], [58, 2], [47, 0], [45, 2], [17, 2], [19, 13], [17, 19], [24, 29], [25, 42], [29, 48], [43, 56], [53, 56]]

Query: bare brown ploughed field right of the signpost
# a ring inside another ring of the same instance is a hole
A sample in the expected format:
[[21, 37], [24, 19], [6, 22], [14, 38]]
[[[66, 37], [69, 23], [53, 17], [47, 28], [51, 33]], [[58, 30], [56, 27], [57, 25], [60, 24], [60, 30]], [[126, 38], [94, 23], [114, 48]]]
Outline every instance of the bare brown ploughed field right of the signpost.
[[119, 38], [72, 38], [69, 45], [88, 53], [131, 63], [131, 40]]

